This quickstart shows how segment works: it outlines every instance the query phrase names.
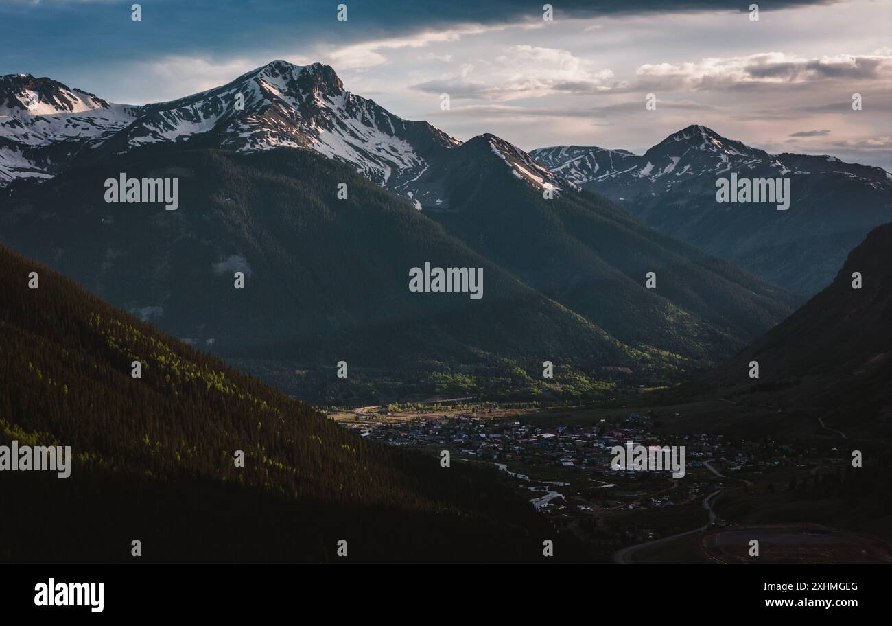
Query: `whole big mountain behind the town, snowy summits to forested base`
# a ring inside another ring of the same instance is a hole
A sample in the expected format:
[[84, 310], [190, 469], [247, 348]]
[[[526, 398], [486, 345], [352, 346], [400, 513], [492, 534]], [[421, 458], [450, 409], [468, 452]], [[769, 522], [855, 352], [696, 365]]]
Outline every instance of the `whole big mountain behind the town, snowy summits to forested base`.
[[[314, 399], [343, 391], [342, 359], [384, 378], [430, 372], [429, 393], [481, 391], [482, 372], [503, 388], [571, 396], [591, 391], [583, 380], [668, 383], [739, 350], [796, 301], [499, 137], [462, 144], [343, 91], [325, 65], [273, 62], [144, 107], [45, 78], [4, 81], [29, 88], [5, 97], [3, 153], [30, 161], [6, 169], [16, 180], [0, 240]], [[95, 125], [75, 135], [81, 118]], [[40, 144], [19, 132], [45, 125], [68, 135]], [[178, 210], [104, 202], [103, 181], [121, 172], [178, 177]], [[29, 185], [35, 177], [53, 178]], [[409, 292], [409, 268], [425, 261], [483, 268], [483, 300]], [[541, 379], [544, 360], [562, 377]]]

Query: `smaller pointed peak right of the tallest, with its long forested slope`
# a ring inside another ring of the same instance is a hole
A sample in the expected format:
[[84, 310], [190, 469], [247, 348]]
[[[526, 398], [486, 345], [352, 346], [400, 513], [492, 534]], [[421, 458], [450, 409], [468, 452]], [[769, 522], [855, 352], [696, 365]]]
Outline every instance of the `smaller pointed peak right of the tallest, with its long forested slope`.
[[[506, 158], [509, 155], [510, 158]], [[495, 136], [454, 149], [454, 162], [425, 172], [440, 181], [425, 213], [525, 284], [636, 349], [706, 357], [717, 346], [770, 327], [792, 299], [736, 268], [657, 235], [603, 197], [545, 199], [549, 178]], [[643, 284], [657, 275], [657, 289]], [[657, 339], [658, 337], [658, 339]], [[706, 348], [711, 346], [712, 348]]]

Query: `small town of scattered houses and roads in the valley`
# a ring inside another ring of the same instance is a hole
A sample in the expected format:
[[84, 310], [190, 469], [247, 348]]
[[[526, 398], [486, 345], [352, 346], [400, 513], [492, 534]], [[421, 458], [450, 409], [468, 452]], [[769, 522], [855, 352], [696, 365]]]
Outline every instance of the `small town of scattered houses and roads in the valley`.
[[[652, 557], [655, 550], [678, 551], [686, 561], [747, 561], [748, 542], [757, 536], [780, 544], [778, 560], [807, 561], [814, 551], [801, 552], [803, 533], [823, 537], [819, 548], [832, 560], [863, 549], [865, 541], [818, 524], [756, 524], [723, 513], [745, 500], [807, 498], [822, 482], [841, 481], [850, 464], [847, 450], [836, 445], [669, 435], [655, 424], [677, 414], [655, 410], [617, 409], [588, 419], [571, 412], [564, 424], [533, 408], [492, 403], [384, 405], [330, 416], [364, 439], [428, 451], [432, 463], [443, 465], [448, 451], [450, 465], [491, 465], [541, 515], [620, 562]], [[670, 469], [615, 469], [612, 449], [630, 442], [651, 450], [683, 446], [683, 477]], [[871, 557], [888, 562], [884, 542], [868, 544]]]

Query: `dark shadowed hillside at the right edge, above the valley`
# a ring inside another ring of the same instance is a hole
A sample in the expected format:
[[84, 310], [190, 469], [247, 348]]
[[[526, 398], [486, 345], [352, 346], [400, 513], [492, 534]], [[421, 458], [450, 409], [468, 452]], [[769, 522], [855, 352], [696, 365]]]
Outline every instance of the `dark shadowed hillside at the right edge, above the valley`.
[[[855, 272], [862, 286], [853, 288]], [[706, 376], [726, 397], [770, 401], [828, 424], [892, 437], [892, 224], [851, 251], [833, 282]], [[749, 378], [749, 363], [759, 377]]]

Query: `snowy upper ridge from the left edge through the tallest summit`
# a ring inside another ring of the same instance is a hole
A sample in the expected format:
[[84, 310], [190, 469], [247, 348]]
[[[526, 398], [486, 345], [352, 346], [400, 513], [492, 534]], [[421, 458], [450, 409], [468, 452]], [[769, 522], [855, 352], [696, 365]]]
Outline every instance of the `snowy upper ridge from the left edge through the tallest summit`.
[[427, 122], [401, 119], [345, 91], [321, 63], [270, 62], [227, 85], [144, 106], [109, 104], [49, 78], [18, 74], [0, 79], [0, 95], [7, 100], [7, 111], [0, 105], [0, 185], [46, 177], [70, 163], [47, 164], [37, 147], [73, 157], [85, 147], [120, 153], [190, 141], [239, 152], [306, 148], [405, 194], [427, 160], [459, 144]]

